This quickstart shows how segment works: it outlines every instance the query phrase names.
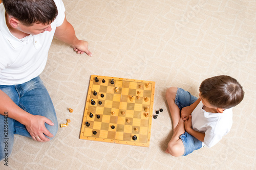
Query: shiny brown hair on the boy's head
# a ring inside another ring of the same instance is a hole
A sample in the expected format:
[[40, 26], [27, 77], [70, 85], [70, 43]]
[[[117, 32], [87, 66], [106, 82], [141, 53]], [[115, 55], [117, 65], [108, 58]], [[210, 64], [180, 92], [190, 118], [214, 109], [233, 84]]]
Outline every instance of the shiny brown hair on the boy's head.
[[230, 76], [215, 76], [205, 79], [200, 87], [201, 97], [221, 109], [238, 105], [244, 98], [243, 87]]

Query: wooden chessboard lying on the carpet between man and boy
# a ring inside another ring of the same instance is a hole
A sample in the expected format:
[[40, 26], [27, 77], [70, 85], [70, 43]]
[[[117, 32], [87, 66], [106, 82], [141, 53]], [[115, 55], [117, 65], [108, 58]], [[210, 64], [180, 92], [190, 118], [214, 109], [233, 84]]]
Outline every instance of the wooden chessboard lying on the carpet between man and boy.
[[[99, 80], [98, 82], [95, 81], [95, 77]], [[102, 79], [105, 83], [102, 83]], [[114, 79], [114, 84], [111, 84], [112, 79]], [[117, 87], [118, 91], [116, 91]], [[94, 91], [97, 95], [93, 94]], [[152, 81], [92, 75], [80, 139], [149, 147], [154, 92], [155, 82]], [[101, 94], [104, 95], [103, 98]], [[138, 95], [139, 99], [137, 99]], [[134, 101], [130, 100], [132, 96]], [[92, 99], [96, 102], [95, 105], [92, 105]], [[102, 102], [101, 105], [99, 101]], [[148, 107], [147, 112], [146, 107]], [[93, 117], [90, 117], [90, 113]], [[100, 118], [97, 118], [97, 115]], [[86, 126], [87, 122], [90, 124], [89, 127]], [[112, 126], [115, 126], [115, 129], [112, 129]], [[94, 131], [97, 134], [93, 134]], [[132, 139], [134, 135], [137, 136], [137, 140]]]

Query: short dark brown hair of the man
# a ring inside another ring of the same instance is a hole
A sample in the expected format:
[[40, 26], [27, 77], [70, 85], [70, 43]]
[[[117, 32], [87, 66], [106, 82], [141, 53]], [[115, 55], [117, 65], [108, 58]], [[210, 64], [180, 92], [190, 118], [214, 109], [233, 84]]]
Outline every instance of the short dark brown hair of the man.
[[25, 26], [33, 23], [49, 25], [58, 15], [53, 0], [2, 0], [6, 13]]

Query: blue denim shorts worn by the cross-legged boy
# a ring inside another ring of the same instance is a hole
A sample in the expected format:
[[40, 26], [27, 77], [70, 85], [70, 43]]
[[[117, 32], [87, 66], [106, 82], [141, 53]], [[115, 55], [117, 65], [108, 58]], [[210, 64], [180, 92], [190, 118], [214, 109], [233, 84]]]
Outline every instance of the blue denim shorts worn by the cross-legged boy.
[[[191, 95], [188, 91], [185, 91], [182, 88], [178, 88], [175, 97], [175, 104], [180, 108], [180, 110], [183, 107], [190, 106], [196, 101], [197, 98], [195, 96]], [[187, 132], [180, 135], [180, 139], [182, 140], [185, 149], [183, 156], [186, 156], [193, 151], [202, 148], [203, 142], [188, 134]]]

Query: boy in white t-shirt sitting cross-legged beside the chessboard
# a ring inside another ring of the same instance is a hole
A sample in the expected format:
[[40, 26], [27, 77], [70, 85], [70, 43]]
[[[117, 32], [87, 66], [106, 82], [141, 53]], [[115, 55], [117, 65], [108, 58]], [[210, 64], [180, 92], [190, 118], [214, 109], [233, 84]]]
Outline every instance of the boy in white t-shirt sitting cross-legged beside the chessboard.
[[204, 145], [210, 148], [230, 131], [232, 107], [244, 98], [242, 86], [230, 76], [216, 76], [204, 80], [199, 92], [197, 99], [181, 88], [167, 89], [174, 134], [166, 153], [186, 156]]

